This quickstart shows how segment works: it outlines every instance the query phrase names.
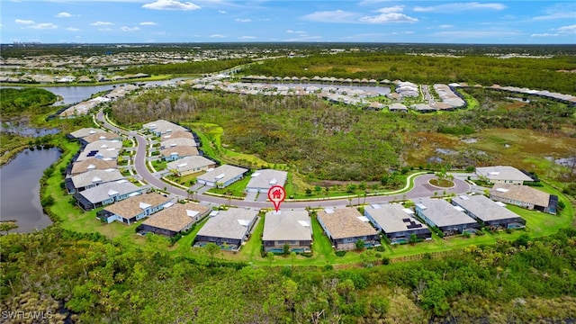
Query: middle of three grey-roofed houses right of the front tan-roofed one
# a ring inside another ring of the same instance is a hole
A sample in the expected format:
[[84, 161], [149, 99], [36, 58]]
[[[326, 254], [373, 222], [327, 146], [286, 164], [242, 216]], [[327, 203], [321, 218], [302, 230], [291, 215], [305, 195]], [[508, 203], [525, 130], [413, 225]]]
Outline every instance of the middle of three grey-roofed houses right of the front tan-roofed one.
[[480, 228], [480, 224], [466, 215], [462, 208], [444, 199], [420, 198], [416, 201], [416, 215], [428, 226], [440, 229], [444, 235], [463, 233]]

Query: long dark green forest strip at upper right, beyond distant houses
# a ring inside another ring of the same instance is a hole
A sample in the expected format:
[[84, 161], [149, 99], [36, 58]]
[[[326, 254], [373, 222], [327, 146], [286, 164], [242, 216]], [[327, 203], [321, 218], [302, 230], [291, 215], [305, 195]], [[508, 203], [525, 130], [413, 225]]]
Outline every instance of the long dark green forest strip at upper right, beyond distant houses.
[[247, 75], [334, 76], [375, 80], [410, 81], [418, 84], [464, 82], [470, 85], [512, 85], [576, 94], [576, 75], [560, 71], [576, 69], [576, 58], [547, 59], [429, 57], [405, 54], [342, 53], [305, 58], [279, 58], [254, 64]]

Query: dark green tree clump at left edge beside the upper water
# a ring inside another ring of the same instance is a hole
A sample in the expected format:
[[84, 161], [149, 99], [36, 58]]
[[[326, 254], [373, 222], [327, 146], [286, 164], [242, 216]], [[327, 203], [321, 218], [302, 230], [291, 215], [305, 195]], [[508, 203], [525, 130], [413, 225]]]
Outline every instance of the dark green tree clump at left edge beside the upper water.
[[15, 115], [49, 112], [49, 105], [56, 103], [57, 100], [56, 94], [40, 88], [2, 88], [0, 89], [2, 120]]

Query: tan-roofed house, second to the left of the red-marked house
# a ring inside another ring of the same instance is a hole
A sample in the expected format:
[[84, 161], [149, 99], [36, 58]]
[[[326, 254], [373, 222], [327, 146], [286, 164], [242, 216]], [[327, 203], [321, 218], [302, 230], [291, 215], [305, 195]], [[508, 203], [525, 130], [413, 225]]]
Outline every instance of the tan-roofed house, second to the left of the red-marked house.
[[154, 216], [144, 220], [137, 231], [145, 231], [155, 234], [174, 237], [178, 233], [192, 228], [193, 224], [202, 220], [210, 213], [211, 209], [195, 202], [175, 203]]

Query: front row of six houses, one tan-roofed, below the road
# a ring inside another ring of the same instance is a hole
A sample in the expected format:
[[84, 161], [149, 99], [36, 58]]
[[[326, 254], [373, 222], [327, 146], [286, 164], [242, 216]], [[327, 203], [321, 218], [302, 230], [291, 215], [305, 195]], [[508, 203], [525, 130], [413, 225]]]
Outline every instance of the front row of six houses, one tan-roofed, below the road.
[[[238, 250], [250, 238], [259, 221], [258, 211], [230, 208], [213, 211], [210, 219], [198, 231], [194, 246], [215, 243], [223, 248]], [[444, 235], [474, 232], [482, 226], [490, 229], [518, 229], [526, 226], [518, 214], [506, 204], [494, 202], [484, 195], [461, 195], [452, 199], [422, 198], [415, 207], [401, 203], [372, 204], [364, 215], [356, 208], [327, 208], [317, 212], [317, 220], [336, 250], [358, 247], [378, 247], [381, 235], [392, 244], [432, 238], [432, 230]], [[311, 251], [312, 229], [308, 211], [268, 211], [264, 218], [262, 244], [266, 252]]]

